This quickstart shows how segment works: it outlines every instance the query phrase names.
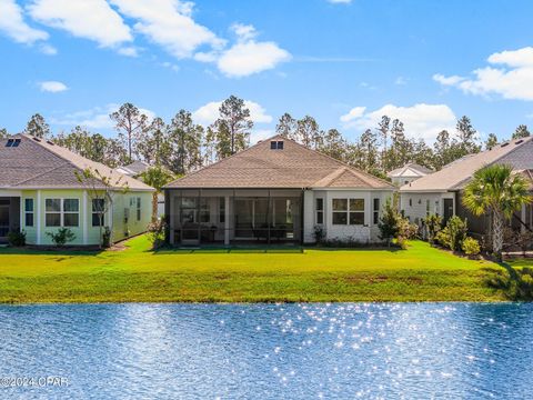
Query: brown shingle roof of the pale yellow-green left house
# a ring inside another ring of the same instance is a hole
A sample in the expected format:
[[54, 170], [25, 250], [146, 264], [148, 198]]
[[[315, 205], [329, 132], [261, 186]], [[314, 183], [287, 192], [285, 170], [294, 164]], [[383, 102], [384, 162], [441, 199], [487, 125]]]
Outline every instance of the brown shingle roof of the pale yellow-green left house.
[[113, 184], [120, 179], [118, 188], [127, 184], [130, 190], [154, 190], [137, 179], [50, 141], [37, 140], [27, 134], [16, 134], [10, 139], [20, 139], [20, 142], [17, 147], [7, 147], [8, 139], [0, 141], [2, 189], [82, 189], [86, 186], [78, 181], [76, 172], [90, 168], [109, 177]]

